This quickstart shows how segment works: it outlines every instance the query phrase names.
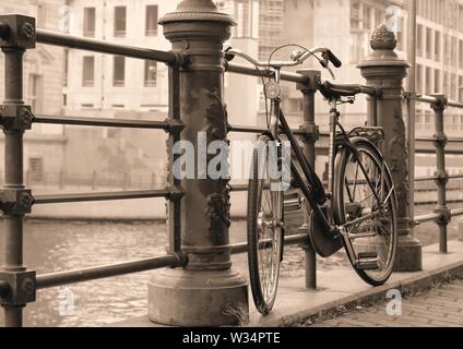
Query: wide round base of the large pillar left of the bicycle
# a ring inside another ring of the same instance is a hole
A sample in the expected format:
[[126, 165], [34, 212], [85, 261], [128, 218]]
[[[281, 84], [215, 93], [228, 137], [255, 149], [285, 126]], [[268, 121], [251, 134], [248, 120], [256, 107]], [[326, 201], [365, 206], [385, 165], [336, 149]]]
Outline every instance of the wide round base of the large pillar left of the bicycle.
[[170, 326], [246, 325], [247, 280], [234, 270], [156, 272], [149, 282], [149, 318]]

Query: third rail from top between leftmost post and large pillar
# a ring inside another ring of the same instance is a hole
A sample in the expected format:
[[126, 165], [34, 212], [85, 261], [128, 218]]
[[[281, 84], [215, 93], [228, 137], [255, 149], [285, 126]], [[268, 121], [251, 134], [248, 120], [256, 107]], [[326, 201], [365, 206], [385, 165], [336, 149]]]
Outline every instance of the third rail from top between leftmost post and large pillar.
[[118, 201], [118, 200], [134, 200], [134, 198], [156, 198], [170, 197], [174, 192], [168, 190], [141, 190], [141, 191], [124, 191], [124, 192], [106, 192], [106, 193], [76, 193], [76, 194], [51, 194], [34, 196], [35, 205], [45, 204], [64, 204], [79, 202], [95, 202], [95, 201]]

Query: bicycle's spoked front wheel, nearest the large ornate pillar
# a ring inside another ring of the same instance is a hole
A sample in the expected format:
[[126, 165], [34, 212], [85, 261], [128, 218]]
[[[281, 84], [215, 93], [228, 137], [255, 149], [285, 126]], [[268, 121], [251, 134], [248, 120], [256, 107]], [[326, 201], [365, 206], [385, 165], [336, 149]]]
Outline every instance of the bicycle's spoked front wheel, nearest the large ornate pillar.
[[283, 251], [283, 191], [272, 191], [269, 168], [276, 159], [269, 136], [259, 139], [252, 156], [248, 192], [248, 264], [252, 297], [258, 311], [268, 315], [276, 299]]

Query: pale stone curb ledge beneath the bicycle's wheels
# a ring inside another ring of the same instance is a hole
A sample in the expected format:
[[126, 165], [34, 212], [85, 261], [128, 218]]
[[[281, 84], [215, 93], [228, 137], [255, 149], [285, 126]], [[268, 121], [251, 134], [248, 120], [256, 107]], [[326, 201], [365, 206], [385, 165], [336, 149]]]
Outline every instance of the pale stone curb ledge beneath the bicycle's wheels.
[[[282, 278], [278, 297], [271, 315], [261, 316], [250, 304], [250, 321], [245, 326], [299, 326], [318, 322], [348, 311], [357, 310], [384, 301], [388, 291], [399, 290], [402, 294], [416, 294], [455, 278], [463, 278], [463, 242], [449, 242], [449, 254], [438, 253], [438, 245], [424, 249], [424, 270], [418, 273], [399, 273], [391, 280], [378, 288], [361, 281], [356, 273], [349, 269], [330, 269], [318, 273], [319, 289], [304, 288], [304, 278]], [[452, 290], [456, 292], [456, 290]], [[462, 292], [463, 293], [463, 292]], [[456, 298], [456, 296], [455, 296]], [[252, 298], [250, 297], [250, 300]], [[460, 301], [455, 301], [460, 302]], [[436, 303], [435, 305], [437, 305]], [[460, 303], [459, 303], [460, 304]], [[384, 312], [384, 308], [378, 308]], [[416, 305], [415, 312], [419, 308]], [[434, 313], [435, 309], [420, 309], [422, 312]], [[444, 313], [447, 314], [447, 313]], [[448, 315], [458, 315], [448, 314]], [[411, 315], [409, 312], [406, 315]], [[463, 315], [463, 314], [462, 314]], [[373, 315], [371, 315], [373, 316]], [[347, 320], [349, 322], [352, 320]], [[364, 325], [372, 325], [372, 318], [365, 317]], [[359, 324], [359, 323], [357, 323]], [[375, 323], [376, 324], [376, 323]], [[389, 322], [384, 323], [385, 326]], [[378, 323], [378, 325], [380, 325]], [[151, 327], [147, 317], [129, 320], [114, 326]]]

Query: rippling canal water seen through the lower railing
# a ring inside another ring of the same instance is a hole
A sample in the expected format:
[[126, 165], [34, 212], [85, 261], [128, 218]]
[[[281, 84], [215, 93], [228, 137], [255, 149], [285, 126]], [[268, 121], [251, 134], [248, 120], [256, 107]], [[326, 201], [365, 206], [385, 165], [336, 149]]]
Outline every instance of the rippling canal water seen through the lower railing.
[[[456, 238], [456, 225], [451, 238]], [[123, 261], [152, 257], [165, 253], [167, 232], [164, 222], [85, 222], [26, 221], [24, 256], [37, 274], [71, 270]], [[234, 221], [233, 243], [245, 241], [246, 221]], [[418, 230], [424, 244], [437, 242], [437, 229], [427, 225]], [[3, 227], [0, 222], [0, 237]], [[0, 240], [0, 251], [3, 241]], [[234, 256], [235, 267], [247, 272], [246, 255]], [[282, 277], [304, 276], [304, 252], [298, 246], [285, 250]], [[319, 260], [319, 269], [348, 267], [341, 252]], [[146, 315], [147, 280], [152, 272], [76, 284], [37, 294], [37, 302], [25, 310], [27, 326], [104, 326]], [[0, 310], [0, 326], [3, 322]]]

